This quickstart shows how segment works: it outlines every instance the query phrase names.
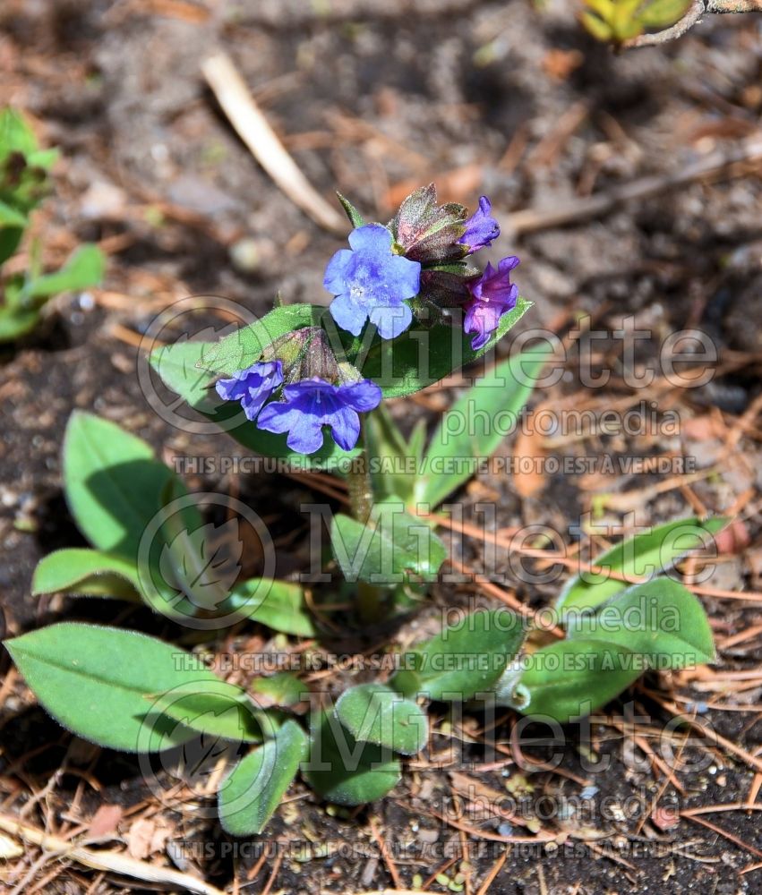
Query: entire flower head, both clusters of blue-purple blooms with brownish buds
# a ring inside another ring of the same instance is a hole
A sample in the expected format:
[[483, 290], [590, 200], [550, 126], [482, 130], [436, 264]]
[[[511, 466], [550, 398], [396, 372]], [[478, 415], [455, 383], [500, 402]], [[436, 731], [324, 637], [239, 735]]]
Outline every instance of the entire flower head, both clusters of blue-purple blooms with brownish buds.
[[[323, 277], [338, 328], [358, 337], [371, 324], [381, 339], [396, 339], [414, 318], [427, 326], [451, 320], [459, 308], [472, 350], [483, 349], [518, 300], [510, 282], [518, 258], [503, 258], [497, 268], [487, 264], [484, 272], [468, 260], [500, 235], [490, 200], [482, 196], [469, 217], [462, 205], [439, 205], [431, 184], [411, 193], [386, 226], [364, 223], [342, 202], [355, 229], [349, 248], [333, 255]], [[220, 379], [216, 388], [224, 400], [240, 402], [259, 429], [285, 434], [287, 446], [302, 454], [322, 447], [324, 427], [338, 447], [355, 447], [359, 413], [373, 410], [382, 396], [371, 379], [338, 360], [320, 327], [280, 337], [258, 362]]]

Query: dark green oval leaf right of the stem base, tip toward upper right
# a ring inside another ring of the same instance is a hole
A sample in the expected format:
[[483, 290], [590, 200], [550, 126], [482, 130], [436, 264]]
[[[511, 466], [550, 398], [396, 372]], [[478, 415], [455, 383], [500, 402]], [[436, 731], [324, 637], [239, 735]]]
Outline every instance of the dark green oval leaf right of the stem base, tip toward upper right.
[[525, 634], [521, 618], [508, 609], [474, 612], [407, 653], [390, 686], [405, 696], [471, 699], [492, 689]]

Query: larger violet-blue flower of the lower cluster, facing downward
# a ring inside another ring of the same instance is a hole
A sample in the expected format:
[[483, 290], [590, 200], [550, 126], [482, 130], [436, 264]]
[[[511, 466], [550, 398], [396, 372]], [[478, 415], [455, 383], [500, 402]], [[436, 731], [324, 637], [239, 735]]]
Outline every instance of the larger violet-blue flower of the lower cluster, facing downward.
[[257, 425], [268, 432], [287, 432], [288, 447], [300, 454], [314, 454], [322, 447], [323, 426], [330, 426], [338, 447], [355, 447], [360, 436], [357, 412], [381, 404], [381, 388], [370, 379], [334, 386], [313, 377], [286, 386], [283, 397], [285, 400], [265, 407]]

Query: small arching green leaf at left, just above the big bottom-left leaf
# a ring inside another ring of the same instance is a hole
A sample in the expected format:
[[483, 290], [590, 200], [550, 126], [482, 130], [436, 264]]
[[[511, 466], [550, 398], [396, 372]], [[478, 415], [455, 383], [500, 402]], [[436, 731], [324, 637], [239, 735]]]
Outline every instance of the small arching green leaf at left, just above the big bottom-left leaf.
[[132, 563], [102, 550], [69, 548], [40, 559], [31, 592], [77, 593], [86, 597], [140, 600], [138, 575]]

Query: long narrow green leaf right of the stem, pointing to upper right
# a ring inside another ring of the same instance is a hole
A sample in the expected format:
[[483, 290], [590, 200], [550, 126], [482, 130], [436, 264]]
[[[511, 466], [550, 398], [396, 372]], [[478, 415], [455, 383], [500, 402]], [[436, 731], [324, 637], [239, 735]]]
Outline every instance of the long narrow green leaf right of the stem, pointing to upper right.
[[475, 462], [492, 456], [518, 423], [547, 355], [527, 351], [498, 364], [444, 413], [424, 460], [415, 499], [436, 507], [475, 473]]

